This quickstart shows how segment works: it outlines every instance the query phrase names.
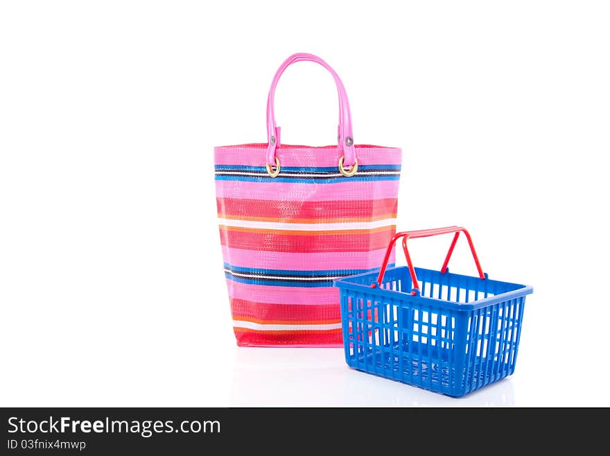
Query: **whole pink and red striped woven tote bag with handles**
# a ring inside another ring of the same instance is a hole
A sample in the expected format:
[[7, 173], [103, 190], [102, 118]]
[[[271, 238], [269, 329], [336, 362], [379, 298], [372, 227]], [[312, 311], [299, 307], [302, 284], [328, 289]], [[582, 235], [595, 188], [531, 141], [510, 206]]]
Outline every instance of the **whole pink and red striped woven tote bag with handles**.
[[[337, 146], [280, 144], [275, 87], [289, 65], [304, 60], [325, 67], [337, 84]], [[395, 230], [401, 150], [354, 145], [339, 76], [324, 60], [304, 53], [290, 56], [275, 74], [267, 139], [214, 149], [237, 344], [341, 346], [333, 278], [381, 264]]]

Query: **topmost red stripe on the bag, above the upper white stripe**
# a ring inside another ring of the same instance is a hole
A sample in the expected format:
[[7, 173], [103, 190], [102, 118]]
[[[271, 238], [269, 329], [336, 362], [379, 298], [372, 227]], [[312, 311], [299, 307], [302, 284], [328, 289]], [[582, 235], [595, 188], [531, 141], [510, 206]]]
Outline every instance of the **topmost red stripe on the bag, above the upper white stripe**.
[[342, 219], [381, 217], [396, 214], [397, 199], [355, 201], [269, 201], [257, 199], [217, 198], [221, 216], [247, 216], [268, 219]]

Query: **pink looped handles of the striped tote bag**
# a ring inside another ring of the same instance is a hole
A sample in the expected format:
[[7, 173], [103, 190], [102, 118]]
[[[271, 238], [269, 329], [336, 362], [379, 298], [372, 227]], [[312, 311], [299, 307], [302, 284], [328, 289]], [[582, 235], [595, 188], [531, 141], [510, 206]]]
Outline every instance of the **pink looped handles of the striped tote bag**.
[[275, 88], [279, 78], [284, 73], [286, 68], [295, 62], [315, 62], [322, 67], [326, 68], [333, 76], [337, 85], [337, 92], [339, 95], [339, 126], [338, 126], [338, 148], [343, 151], [343, 164], [346, 167], [351, 167], [356, 163], [356, 150], [354, 149], [354, 135], [351, 131], [351, 111], [349, 110], [349, 101], [347, 99], [347, 92], [341, 82], [338, 74], [331, 66], [324, 62], [320, 57], [314, 56], [308, 53], [296, 53], [284, 60], [284, 63], [277, 69], [271, 88], [269, 90], [269, 96], [267, 97], [267, 163], [270, 166], [275, 166], [275, 149], [279, 146], [280, 140], [280, 128], [275, 125], [275, 112], [274, 112], [274, 99], [275, 99]]

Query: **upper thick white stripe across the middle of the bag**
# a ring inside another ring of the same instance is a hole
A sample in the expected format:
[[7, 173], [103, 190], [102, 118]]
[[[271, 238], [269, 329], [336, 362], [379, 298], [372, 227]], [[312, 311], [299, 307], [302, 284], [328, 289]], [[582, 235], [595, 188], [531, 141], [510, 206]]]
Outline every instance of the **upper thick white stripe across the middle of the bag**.
[[[349, 203], [348, 203], [349, 204]], [[346, 221], [344, 223], [290, 223], [290, 221], [259, 221], [223, 219], [218, 217], [218, 223], [238, 228], [257, 228], [259, 230], [291, 230], [291, 231], [337, 231], [337, 230], [371, 230], [396, 225], [396, 219], [374, 221]]]

